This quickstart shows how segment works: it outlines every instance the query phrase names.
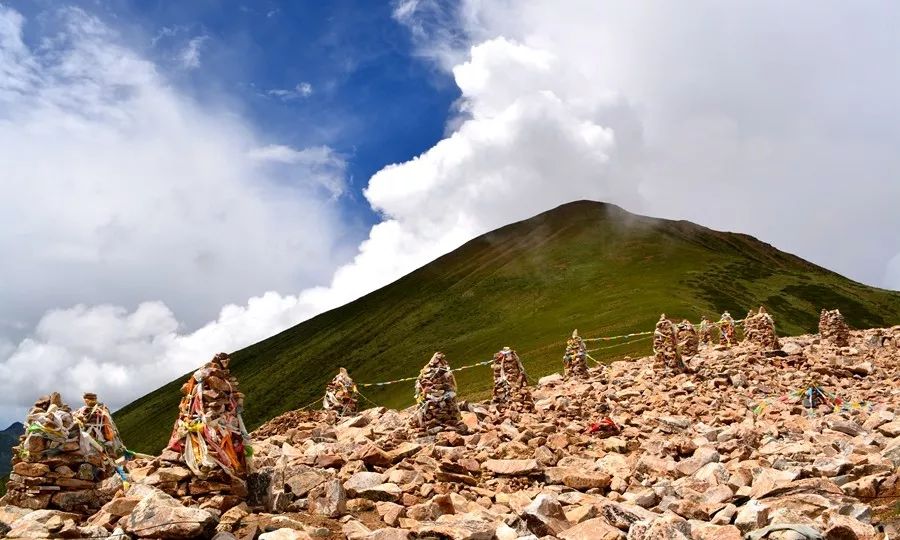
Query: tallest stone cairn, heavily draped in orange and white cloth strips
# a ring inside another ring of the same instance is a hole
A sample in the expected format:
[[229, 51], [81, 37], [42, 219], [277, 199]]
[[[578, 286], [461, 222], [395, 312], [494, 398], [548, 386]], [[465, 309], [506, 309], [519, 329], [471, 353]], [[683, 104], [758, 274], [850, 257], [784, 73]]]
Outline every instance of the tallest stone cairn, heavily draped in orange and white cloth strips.
[[230, 361], [219, 353], [182, 385], [178, 420], [159, 458], [174, 471], [157, 486], [163, 491], [202, 499], [246, 496], [252, 449], [241, 418], [244, 395], [228, 370]]

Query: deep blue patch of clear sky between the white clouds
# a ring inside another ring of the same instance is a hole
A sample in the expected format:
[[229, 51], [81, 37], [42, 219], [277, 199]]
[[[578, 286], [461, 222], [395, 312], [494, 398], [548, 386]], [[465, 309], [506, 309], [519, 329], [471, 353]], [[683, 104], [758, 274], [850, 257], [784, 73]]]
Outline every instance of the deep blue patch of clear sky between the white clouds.
[[[46, 25], [56, 2], [10, 5]], [[459, 89], [417, 56], [390, 2], [70, 2], [121, 32], [198, 101], [226, 100], [281, 144], [327, 145], [347, 158], [342, 199], [360, 234], [377, 217], [368, 178], [430, 148]], [[43, 20], [42, 20], [43, 19]], [[28, 34], [26, 34], [28, 36]], [[34, 35], [32, 35], [34, 38]], [[196, 65], [183, 54], [196, 43]]]

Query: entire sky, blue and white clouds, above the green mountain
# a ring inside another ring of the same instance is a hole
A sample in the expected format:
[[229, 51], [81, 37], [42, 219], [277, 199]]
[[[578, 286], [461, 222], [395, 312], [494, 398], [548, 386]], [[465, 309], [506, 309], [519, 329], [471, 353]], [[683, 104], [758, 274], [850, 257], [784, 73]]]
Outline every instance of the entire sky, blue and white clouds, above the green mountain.
[[900, 7], [0, 2], [0, 423], [577, 199], [900, 289]]

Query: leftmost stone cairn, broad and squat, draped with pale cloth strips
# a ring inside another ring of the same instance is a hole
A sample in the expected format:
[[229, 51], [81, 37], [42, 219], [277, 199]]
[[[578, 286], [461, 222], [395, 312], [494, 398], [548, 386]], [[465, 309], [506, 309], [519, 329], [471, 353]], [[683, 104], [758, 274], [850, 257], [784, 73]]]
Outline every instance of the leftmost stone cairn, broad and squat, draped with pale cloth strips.
[[[112, 430], [117, 433], [114, 425]], [[91, 514], [112, 496], [99, 491], [114, 473], [111, 462], [88, 442], [56, 392], [39, 398], [28, 412], [12, 465], [0, 504]]]

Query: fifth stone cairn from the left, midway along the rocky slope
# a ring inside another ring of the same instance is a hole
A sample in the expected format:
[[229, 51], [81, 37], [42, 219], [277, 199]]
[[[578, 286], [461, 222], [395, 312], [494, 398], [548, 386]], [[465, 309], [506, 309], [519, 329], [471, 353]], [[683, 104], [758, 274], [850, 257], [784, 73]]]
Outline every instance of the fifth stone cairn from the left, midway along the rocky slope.
[[428, 433], [464, 429], [456, 404], [456, 378], [444, 353], [436, 352], [416, 379], [416, 411], [412, 428]]

